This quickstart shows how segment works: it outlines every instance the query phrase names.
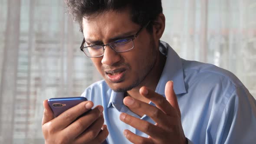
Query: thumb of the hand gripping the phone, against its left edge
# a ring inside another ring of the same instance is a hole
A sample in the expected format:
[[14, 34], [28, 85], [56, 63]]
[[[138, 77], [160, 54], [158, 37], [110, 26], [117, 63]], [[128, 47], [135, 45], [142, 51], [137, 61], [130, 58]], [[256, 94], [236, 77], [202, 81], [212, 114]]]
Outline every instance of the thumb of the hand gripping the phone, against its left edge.
[[47, 101], [48, 101], [47, 99], [43, 101], [44, 111], [43, 111], [42, 125], [48, 121], [51, 121], [54, 118], [53, 111], [48, 105]]

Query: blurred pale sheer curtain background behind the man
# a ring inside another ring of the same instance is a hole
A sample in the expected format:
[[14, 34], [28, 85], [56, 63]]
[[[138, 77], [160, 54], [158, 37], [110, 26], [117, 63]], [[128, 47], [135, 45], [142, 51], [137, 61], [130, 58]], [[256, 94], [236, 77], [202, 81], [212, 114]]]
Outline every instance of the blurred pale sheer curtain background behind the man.
[[[42, 102], [101, 78], [64, 0], [0, 0], [0, 144], [43, 144]], [[162, 0], [162, 40], [233, 72], [256, 96], [256, 0]]]

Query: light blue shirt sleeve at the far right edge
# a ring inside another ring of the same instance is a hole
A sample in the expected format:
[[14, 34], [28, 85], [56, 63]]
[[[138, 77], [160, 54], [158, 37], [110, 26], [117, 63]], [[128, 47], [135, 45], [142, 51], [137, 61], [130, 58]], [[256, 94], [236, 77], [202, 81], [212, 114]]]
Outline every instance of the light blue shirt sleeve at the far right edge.
[[217, 126], [215, 144], [256, 143], [256, 101], [244, 87], [230, 96]]

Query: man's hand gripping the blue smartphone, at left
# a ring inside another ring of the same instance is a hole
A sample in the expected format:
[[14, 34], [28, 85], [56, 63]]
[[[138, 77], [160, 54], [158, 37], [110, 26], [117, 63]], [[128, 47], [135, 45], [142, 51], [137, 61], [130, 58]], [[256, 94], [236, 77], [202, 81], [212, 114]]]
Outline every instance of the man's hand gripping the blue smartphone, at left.
[[[100, 144], [108, 136], [107, 126], [103, 125], [101, 105], [89, 111], [93, 107], [92, 101], [83, 101], [56, 118], [47, 100], [43, 101], [43, 106], [42, 130], [45, 144]], [[89, 112], [75, 121], [86, 111]]]

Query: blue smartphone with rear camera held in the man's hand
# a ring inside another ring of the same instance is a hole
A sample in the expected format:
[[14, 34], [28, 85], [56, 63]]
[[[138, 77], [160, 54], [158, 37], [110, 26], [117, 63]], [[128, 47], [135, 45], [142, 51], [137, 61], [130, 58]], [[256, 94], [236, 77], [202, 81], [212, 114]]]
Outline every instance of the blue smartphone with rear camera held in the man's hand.
[[75, 105], [78, 105], [82, 101], [87, 101], [87, 98], [85, 97], [50, 98], [48, 100], [48, 105], [51, 107], [54, 116], [57, 117], [62, 112], [68, 110], [69, 108], [72, 108]]

